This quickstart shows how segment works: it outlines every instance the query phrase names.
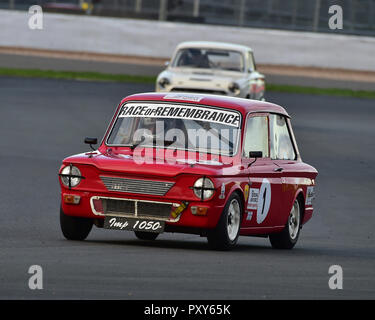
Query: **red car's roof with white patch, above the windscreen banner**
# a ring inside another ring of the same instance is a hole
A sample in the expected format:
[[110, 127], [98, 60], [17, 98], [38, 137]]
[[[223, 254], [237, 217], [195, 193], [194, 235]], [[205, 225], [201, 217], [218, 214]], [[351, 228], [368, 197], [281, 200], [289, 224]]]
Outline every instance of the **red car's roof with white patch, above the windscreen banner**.
[[193, 103], [234, 109], [240, 111], [242, 114], [246, 114], [248, 112], [271, 112], [283, 114], [289, 117], [288, 113], [283, 107], [274, 103], [209, 94], [196, 94], [186, 92], [148, 92], [127, 96], [121, 101], [121, 104], [127, 101], [163, 101], [190, 104]]

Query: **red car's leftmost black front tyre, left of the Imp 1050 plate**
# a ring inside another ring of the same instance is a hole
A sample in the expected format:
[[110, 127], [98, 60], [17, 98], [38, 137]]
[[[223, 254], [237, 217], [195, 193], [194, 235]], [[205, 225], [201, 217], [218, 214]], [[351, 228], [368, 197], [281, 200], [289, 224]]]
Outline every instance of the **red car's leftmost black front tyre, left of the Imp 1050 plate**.
[[93, 225], [93, 219], [66, 215], [60, 208], [60, 227], [68, 240], [85, 240]]

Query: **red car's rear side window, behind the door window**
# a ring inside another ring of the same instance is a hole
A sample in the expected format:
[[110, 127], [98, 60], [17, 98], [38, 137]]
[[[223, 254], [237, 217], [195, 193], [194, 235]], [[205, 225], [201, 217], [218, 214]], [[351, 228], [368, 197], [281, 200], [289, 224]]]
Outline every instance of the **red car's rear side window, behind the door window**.
[[296, 153], [290, 138], [286, 119], [283, 116], [271, 114], [271, 159], [295, 160]]

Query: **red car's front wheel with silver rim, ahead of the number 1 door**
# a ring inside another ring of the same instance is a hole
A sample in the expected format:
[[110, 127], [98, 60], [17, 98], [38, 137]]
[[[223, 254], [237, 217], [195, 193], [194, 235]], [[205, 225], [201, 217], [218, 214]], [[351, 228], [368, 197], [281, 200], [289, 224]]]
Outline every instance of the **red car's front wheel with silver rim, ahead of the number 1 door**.
[[207, 234], [208, 244], [212, 249], [230, 250], [238, 240], [243, 216], [242, 201], [237, 193], [233, 193], [221, 214], [215, 229]]

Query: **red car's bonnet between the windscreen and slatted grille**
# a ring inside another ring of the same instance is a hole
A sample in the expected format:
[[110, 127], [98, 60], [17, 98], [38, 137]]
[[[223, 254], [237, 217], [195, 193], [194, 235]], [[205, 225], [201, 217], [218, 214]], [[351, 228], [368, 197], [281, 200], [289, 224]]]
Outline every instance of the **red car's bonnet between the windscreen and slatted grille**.
[[178, 159], [166, 161], [149, 159], [143, 163], [137, 161], [132, 154], [106, 153], [99, 151], [87, 152], [68, 157], [63, 160], [65, 165], [93, 165], [99, 171], [118, 174], [176, 177], [180, 174], [196, 174], [207, 176], [227, 176], [239, 173], [240, 165], [223, 164], [216, 160], [190, 161]]

